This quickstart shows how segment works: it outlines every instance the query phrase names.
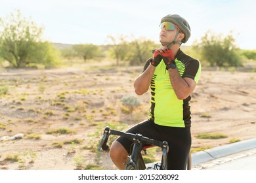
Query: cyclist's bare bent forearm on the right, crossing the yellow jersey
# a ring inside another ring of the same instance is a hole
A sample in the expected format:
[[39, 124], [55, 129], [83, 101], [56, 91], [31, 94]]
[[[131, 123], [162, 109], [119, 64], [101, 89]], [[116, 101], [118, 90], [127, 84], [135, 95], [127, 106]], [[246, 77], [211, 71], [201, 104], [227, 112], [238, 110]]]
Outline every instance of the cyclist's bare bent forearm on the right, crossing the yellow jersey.
[[169, 69], [169, 77], [173, 90], [178, 99], [186, 99], [196, 87], [196, 82], [191, 78], [182, 78], [179, 75], [178, 69]]

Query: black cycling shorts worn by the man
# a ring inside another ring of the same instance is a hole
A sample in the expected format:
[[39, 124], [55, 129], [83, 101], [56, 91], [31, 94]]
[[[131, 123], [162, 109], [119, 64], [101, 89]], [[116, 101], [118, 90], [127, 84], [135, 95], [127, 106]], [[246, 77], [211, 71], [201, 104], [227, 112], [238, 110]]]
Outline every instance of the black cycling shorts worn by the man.
[[[190, 127], [167, 127], [157, 125], [152, 120], [146, 120], [131, 127], [127, 132], [135, 134], [140, 133], [144, 137], [157, 141], [167, 141], [169, 145], [167, 169], [186, 169], [191, 146]], [[120, 142], [127, 150], [128, 154], [130, 154], [133, 141], [126, 137], [119, 137], [116, 141]]]

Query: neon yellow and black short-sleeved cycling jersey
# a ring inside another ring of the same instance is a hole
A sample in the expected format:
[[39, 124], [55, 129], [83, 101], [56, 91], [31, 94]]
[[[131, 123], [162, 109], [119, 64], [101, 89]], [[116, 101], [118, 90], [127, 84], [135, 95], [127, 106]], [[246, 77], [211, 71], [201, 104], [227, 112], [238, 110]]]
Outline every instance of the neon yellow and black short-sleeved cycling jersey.
[[[179, 74], [183, 78], [192, 78], [198, 83], [201, 73], [201, 65], [198, 60], [191, 58], [179, 50], [175, 62]], [[149, 63], [146, 63], [146, 65], [148, 64]], [[171, 86], [169, 73], [165, 67], [165, 63], [162, 60], [156, 67], [151, 81], [151, 106], [149, 118], [154, 119], [155, 124], [158, 125], [170, 127], [190, 126], [191, 112], [189, 101], [191, 96], [188, 96], [184, 100], [177, 98], [173, 87]]]

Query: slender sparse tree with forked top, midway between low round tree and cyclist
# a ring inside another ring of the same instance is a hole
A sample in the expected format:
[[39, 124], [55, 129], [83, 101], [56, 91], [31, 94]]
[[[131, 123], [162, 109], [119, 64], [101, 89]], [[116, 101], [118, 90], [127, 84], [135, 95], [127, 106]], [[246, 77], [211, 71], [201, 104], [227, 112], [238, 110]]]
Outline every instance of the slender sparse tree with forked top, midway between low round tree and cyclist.
[[127, 41], [124, 35], [119, 35], [114, 37], [109, 35], [108, 38], [112, 42], [112, 47], [110, 48], [110, 54], [113, 58], [116, 58], [116, 65], [119, 65], [119, 61], [125, 59], [128, 53]]

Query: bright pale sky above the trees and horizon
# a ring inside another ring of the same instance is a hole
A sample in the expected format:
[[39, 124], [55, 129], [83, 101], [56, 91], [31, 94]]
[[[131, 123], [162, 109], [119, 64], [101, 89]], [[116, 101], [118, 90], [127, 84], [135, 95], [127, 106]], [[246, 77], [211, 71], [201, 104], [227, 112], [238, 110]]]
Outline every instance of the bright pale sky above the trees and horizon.
[[232, 31], [236, 45], [256, 49], [255, 0], [0, 0], [0, 17], [19, 9], [44, 27], [43, 37], [66, 44], [108, 44], [108, 35], [159, 41], [159, 24], [167, 14], [179, 14], [191, 27], [184, 45], [207, 31]]

